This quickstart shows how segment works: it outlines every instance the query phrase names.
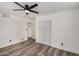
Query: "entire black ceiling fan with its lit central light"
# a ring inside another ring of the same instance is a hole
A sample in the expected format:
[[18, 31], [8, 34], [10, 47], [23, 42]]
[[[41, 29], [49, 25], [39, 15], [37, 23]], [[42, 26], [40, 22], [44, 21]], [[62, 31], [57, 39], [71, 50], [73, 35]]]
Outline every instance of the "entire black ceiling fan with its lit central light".
[[22, 7], [23, 9], [13, 9], [13, 11], [25, 11], [26, 15], [28, 15], [29, 12], [39, 14], [39, 12], [32, 10], [33, 8], [37, 7], [38, 4], [34, 4], [34, 5], [31, 5], [31, 6], [29, 6], [29, 5], [22, 6], [18, 2], [14, 2], [14, 3], [17, 4], [18, 6]]

